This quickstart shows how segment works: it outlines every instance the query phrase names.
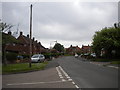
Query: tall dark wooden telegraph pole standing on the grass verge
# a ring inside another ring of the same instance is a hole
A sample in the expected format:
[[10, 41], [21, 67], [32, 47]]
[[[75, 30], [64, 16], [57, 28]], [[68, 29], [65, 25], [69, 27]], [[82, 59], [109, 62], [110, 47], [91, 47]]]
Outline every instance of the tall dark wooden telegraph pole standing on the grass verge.
[[29, 56], [29, 67], [31, 68], [31, 54], [32, 54], [32, 4], [30, 5], [30, 56]]

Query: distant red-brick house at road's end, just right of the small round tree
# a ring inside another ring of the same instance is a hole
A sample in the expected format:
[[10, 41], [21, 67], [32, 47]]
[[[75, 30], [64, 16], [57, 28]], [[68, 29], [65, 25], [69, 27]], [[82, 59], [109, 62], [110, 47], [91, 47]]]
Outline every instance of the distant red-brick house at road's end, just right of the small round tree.
[[81, 48], [78, 46], [70, 46], [69, 48], [66, 48], [66, 53], [74, 55], [75, 53], [80, 53]]

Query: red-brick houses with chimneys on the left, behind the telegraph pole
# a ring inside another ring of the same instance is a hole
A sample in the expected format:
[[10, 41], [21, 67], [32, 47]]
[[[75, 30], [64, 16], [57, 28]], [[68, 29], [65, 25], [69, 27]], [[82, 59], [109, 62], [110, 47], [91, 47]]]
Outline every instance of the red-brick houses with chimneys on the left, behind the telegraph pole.
[[[8, 32], [8, 34], [11, 35], [11, 32]], [[18, 40], [19, 43], [12, 43], [12, 44], [7, 45], [6, 51], [28, 55], [30, 53], [30, 51], [29, 51], [30, 50], [29, 35], [24, 36], [23, 32], [20, 32], [20, 35], [16, 40]], [[47, 52], [47, 49], [44, 46], [42, 46], [40, 42], [38, 42], [37, 40], [35, 41], [35, 38], [33, 38], [31, 40], [32, 40], [32, 54]]]

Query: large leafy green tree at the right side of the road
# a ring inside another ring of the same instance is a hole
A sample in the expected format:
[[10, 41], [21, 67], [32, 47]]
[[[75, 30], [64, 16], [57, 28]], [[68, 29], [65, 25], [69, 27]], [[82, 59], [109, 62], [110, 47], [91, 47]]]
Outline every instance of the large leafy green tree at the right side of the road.
[[120, 57], [120, 28], [115, 25], [96, 32], [92, 44], [93, 51], [98, 57], [101, 50], [105, 51], [106, 57], [112, 58], [113, 51], [116, 57]]

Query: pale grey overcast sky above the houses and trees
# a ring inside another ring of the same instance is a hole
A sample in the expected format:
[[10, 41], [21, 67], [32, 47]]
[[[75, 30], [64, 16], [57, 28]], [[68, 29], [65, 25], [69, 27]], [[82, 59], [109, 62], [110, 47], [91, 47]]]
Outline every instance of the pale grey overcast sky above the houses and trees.
[[[15, 32], [29, 34], [30, 2], [3, 2], [2, 20]], [[32, 36], [46, 48], [91, 45], [95, 31], [118, 21], [117, 2], [37, 2], [33, 4]]]

